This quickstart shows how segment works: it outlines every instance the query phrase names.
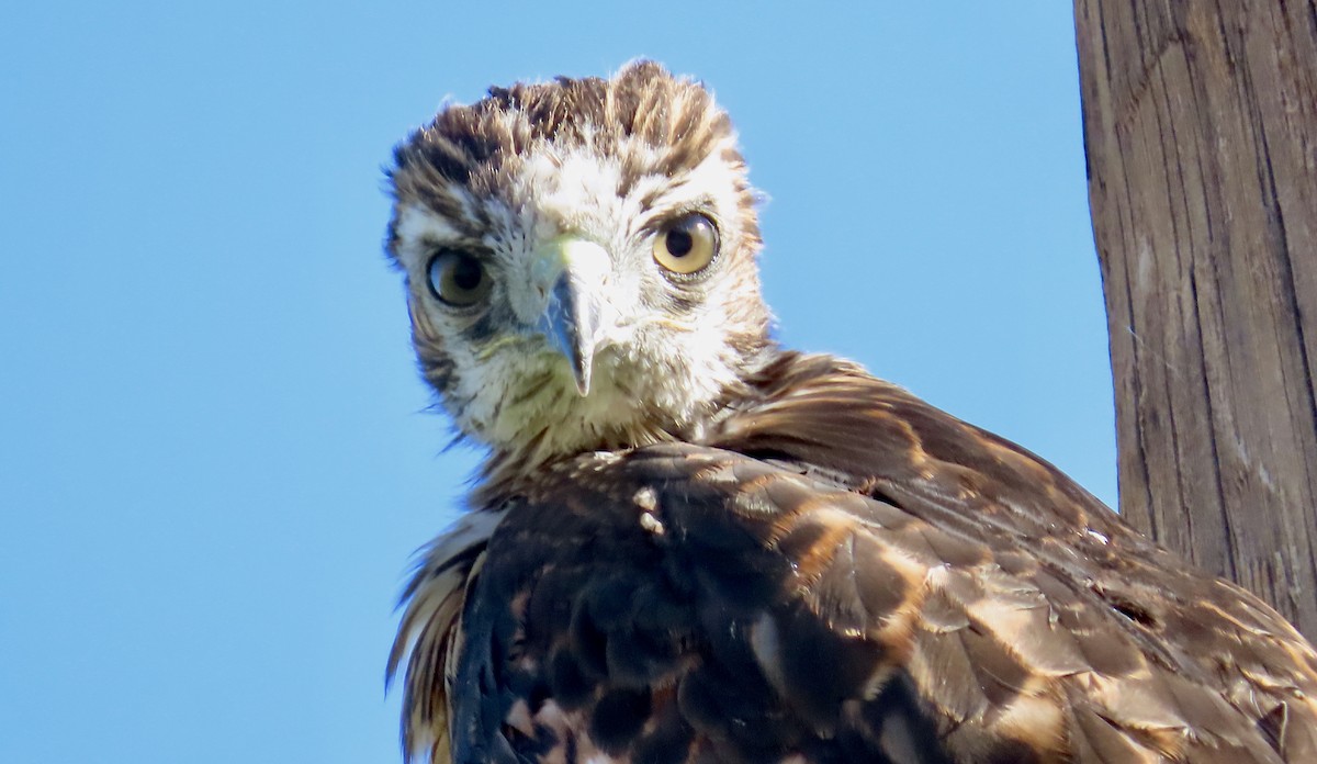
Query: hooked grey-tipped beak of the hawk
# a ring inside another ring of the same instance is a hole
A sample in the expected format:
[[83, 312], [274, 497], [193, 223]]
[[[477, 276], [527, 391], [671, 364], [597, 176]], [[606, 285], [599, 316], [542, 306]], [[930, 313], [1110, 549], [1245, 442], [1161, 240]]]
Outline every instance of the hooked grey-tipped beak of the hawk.
[[568, 360], [577, 393], [590, 393], [594, 353], [603, 340], [603, 286], [611, 261], [593, 241], [560, 236], [535, 253], [531, 281], [548, 299], [536, 331]]

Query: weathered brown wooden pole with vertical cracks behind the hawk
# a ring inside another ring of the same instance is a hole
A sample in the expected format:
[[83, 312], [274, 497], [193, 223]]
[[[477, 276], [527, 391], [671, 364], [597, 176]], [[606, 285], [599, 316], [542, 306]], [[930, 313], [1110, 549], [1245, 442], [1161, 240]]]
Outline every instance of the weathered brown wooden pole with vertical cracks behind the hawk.
[[1076, 0], [1121, 511], [1317, 638], [1317, 3]]

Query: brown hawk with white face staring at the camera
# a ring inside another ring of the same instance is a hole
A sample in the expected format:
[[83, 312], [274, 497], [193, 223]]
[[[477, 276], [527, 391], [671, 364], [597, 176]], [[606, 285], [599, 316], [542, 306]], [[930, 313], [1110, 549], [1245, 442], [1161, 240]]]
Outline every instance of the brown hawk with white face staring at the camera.
[[495, 87], [390, 182], [421, 374], [489, 452], [404, 593], [408, 757], [1317, 761], [1317, 653], [1274, 610], [774, 342], [701, 84]]

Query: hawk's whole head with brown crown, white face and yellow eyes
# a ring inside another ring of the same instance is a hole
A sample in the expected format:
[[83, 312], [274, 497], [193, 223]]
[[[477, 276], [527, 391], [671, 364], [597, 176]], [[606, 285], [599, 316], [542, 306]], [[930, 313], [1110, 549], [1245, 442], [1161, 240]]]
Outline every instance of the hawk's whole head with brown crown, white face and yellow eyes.
[[766, 346], [755, 194], [698, 84], [639, 63], [494, 88], [395, 158], [423, 374], [495, 453], [698, 437]]

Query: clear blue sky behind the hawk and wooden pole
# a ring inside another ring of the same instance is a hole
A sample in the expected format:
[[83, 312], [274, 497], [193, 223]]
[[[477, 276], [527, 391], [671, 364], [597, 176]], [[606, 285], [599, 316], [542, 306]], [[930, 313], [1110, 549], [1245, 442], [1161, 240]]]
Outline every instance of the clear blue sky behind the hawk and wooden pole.
[[1068, 4], [11, 4], [0, 760], [398, 760], [394, 598], [475, 456], [381, 166], [445, 97], [639, 55], [736, 121], [786, 344], [1114, 502]]

